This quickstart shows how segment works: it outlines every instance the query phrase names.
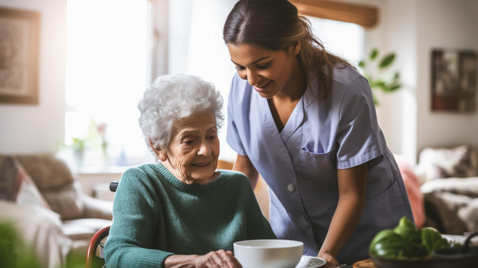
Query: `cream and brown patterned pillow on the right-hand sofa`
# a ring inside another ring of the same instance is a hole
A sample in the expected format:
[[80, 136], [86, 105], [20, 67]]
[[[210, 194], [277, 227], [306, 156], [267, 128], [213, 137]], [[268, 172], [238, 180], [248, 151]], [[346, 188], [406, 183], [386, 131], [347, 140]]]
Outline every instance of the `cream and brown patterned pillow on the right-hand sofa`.
[[478, 176], [478, 159], [473, 147], [425, 148], [420, 152], [419, 169], [425, 181], [436, 178]]

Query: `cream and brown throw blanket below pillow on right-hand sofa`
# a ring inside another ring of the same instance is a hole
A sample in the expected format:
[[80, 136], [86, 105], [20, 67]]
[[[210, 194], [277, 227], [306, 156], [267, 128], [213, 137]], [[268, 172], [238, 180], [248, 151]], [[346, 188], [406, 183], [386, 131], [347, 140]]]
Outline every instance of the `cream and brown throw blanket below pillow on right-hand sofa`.
[[425, 199], [425, 226], [443, 234], [478, 231], [478, 177], [433, 179], [420, 191]]

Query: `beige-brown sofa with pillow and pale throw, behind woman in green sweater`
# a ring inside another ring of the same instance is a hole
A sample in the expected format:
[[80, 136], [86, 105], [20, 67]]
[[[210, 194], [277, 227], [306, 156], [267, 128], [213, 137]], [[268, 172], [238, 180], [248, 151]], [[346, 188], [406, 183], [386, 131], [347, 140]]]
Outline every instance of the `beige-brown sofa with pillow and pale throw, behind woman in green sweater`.
[[111, 225], [113, 202], [83, 193], [53, 155], [0, 155], [0, 222], [12, 224], [42, 267], [84, 261], [88, 244]]

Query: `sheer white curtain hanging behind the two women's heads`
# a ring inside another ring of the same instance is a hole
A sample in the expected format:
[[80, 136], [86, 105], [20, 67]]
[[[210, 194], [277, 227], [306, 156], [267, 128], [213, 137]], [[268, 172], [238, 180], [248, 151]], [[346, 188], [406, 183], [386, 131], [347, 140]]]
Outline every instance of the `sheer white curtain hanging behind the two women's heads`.
[[[188, 3], [190, 9], [184, 7]], [[237, 155], [226, 142], [228, 94], [236, 70], [223, 40], [223, 26], [235, 3], [236, 0], [181, 0], [170, 6], [169, 73], [199, 76], [221, 92], [226, 121], [219, 132], [219, 158], [228, 161], [234, 161]], [[189, 23], [185, 13], [191, 14]]]

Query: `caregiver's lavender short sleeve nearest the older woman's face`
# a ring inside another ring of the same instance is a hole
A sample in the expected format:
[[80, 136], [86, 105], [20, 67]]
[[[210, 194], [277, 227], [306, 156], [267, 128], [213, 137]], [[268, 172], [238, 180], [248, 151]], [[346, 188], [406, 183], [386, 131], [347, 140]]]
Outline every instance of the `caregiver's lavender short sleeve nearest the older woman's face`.
[[229, 144], [229, 146], [231, 146], [231, 148], [233, 148], [233, 150], [235, 150], [238, 154], [240, 155], [247, 155], [247, 153], [245, 152], [245, 149], [244, 149], [244, 146], [242, 145], [242, 141], [240, 140], [240, 136], [239, 136], [239, 131], [238, 131], [238, 127], [237, 127], [237, 124], [236, 124], [236, 118], [235, 116], [239, 116], [239, 114], [234, 114], [234, 110], [235, 108], [238, 109], [240, 107], [235, 107], [235, 104], [233, 102], [234, 100], [234, 94], [236, 92], [234, 92], [234, 89], [235, 89], [235, 82], [238, 78], [235, 76], [233, 78], [233, 82], [231, 84], [231, 90], [229, 91], [229, 99], [228, 99], [228, 130], [227, 130], [227, 134], [226, 134], [226, 140]]

